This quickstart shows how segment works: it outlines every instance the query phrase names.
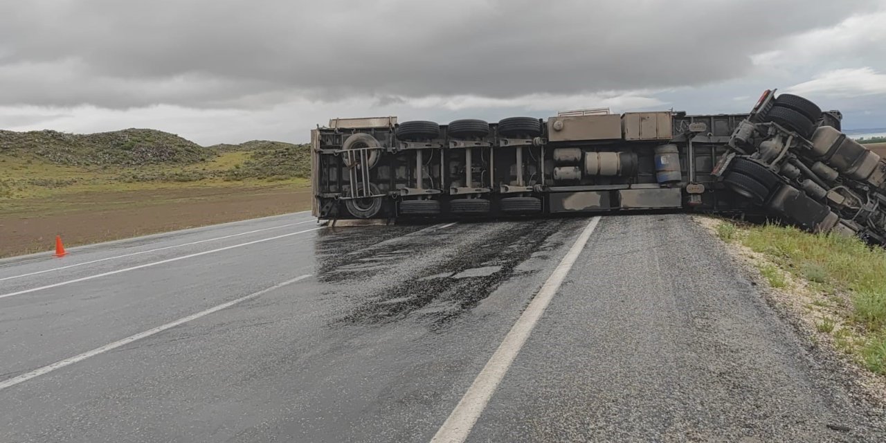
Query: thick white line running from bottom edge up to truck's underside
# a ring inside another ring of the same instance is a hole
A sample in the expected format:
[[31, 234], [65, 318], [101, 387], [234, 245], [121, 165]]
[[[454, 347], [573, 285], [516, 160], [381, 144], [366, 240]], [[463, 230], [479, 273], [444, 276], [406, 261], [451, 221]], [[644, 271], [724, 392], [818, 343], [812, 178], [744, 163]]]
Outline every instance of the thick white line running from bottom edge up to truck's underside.
[[483, 413], [483, 409], [486, 408], [486, 403], [492, 398], [495, 388], [501, 382], [501, 378], [508, 372], [510, 364], [517, 357], [517, 353], [520, 352], [520, 348], [523, 347], [526, 338], [529, 338], [535, 323], [539, 321], [539, 318], [545, 312], [545, 308], [548, 307], [548, 303], [554, 298], [554, 294], [560, 288], [560, 284], [563, 284], [563, 278], [569, 273], [575, 260], [579, 258], [579, 253], [584, 249], [587, 239], [591, 237], [591, 233], [594, 232], [599, 221], [600, 217], [594, 217], [587, 223], [585, 230], [581, 232], [581, 235], [575, 240], [569, 252], [566, 253], [563, 260], [560, 261], [560, 264], [557, 265], [554, 272], [548, 277], [548, 281], [541, 286], [532, 302], [529, 303], [529, 306], [526, 307], [526, 310], [517, 319], [517, 323], [514, 323], [514, 326], [510, 328], [508, 335], [505, 336], [504, 340], [501, 341], [501, 345], [495, 350], [495, 354], [493, 354], [489, 361], [486, 361], [486, 366], [483, 367], [483, 370], [474, 379], [474, 383], [468, 388], [468, 392], [464, 393], [462, 400], [458, 402], [458, 405], [449, 414], [446, 423], [440, 426], [440, 429], [434, 434], [433, 439], [431, 439], [432, 443], [462, 443], [468, 438], [470, 430], [477, 423], [477, 419]]

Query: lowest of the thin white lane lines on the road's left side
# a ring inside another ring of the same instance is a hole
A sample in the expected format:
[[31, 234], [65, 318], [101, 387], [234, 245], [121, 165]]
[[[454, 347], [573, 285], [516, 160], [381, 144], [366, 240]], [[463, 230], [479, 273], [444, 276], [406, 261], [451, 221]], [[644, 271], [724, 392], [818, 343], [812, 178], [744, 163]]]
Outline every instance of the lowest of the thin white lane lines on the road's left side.
[[221, 311], [221, 309], [224, 309], [226, 307], [232, 307], [232, 306], [236, 305], [237, 303], [242, 303], [248, 299], [254, 299], [262, 294], [268, 293], [270, 291], [274, 291], [276, 289], [280, 289], [284, 286], [298, 282], [299, 280], [304, 280], [309, 276], [311, 276], [311, 275], [307, 274], [305, 276], [297, 276], [291, 280], [286, 280], [285, 282], [283, 282], [281, 284], [275, 284], [275, 285], [273, 285], [269, 288], [263, 289], [261, 291], [253, 292], [245, 297], [231, 300], [227, 303], [222, 303], [221, 305], [218, 305], [216, 307], [210, 307], [209, 309], [206, 309], [205, 311], [200, 311], [197, 314], [192, 314], [192, 315], [188, 315], [187, 317], [182, 317], [178, 320], [175, 320], [175, 322], [166, 323], [162, 326], [158, 326], [158, 327], [153, 328], [151, 330], [145, 330], [144, 332], [139, 332], [136, 335], [131, 335], [127, 338], [117, 340], [117, 341], [107, 344], [105, 346], [97, 347], [97, 348], [95, 348], [91, 351], [87, 351], [83, 354], [74, 355], [73, 357], [66, 358], [65, 360], [62, 360], [62, 361], [56, 361], [55, 363], [52, 363], [51, 365], [48, 365], [48, 366], [43, 366], [43, 368], [40, 368], [40, 369], [34, 369], [34, 370], [32, 370], [30, 372], [26, 372], [18, 377], [12, 377], [8, 380], [0, 381], [0, 391], [3, 391], [4, 389], [6, 389], [10, 386], [18, 385], [21, 382], [30, 380], [31, 378], [43, 376], [45, 374], [52, 372], [53, 370], [61, 369], [66, 366], [72, 365], [72, 364], [76, 363], [77, 361], [86, 360], [89, 357], [94, 357], [98, 354], [106, 353], [106, 352], [111, 351], [112, 349], [118, 348], [120, 346], [128, 345], [129, 343], [132, 343], [136, 340], [140, 340], [140, 339], [146, 338], [146, 337], [151, 337], [152, 335], [158, 334], [159, 332], [162, 332], [162, 331], [167, 330], [169, 328], [175, 328], [175, 326], [178, 326], [182, 323], [188, 323], [191, 320], [196, 320], [202, 316], [210, 315], [214, 312]]

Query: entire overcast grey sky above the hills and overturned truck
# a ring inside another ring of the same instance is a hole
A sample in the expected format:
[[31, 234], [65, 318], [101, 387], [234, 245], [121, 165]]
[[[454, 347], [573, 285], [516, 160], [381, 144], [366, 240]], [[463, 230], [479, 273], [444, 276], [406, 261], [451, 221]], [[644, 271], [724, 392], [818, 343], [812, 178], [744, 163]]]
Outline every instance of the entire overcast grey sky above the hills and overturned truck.
[[27, 0], [0, 128], [306, 142], [335, 117], [742, 113], [778, 88], [886, 127], [886, 0]]

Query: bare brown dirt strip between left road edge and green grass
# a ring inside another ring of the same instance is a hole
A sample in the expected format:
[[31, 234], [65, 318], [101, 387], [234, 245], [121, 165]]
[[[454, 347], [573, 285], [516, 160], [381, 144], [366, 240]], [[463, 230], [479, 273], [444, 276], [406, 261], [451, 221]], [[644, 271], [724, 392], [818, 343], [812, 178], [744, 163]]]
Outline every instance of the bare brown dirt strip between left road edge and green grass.
[[306, 187], [185, 187], [27, 198], [0, 209], [0, 257], [309, 209]]

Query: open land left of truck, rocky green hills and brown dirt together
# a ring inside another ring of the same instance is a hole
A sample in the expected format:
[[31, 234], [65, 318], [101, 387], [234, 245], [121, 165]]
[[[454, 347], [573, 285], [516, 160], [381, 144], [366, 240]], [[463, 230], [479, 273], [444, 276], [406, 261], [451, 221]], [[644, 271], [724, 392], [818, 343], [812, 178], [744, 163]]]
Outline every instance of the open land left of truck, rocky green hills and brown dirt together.
[[310, 150], [256, 140], [200, 146], [153, 129], [0, 130], [0, 257], [296, 212]]

